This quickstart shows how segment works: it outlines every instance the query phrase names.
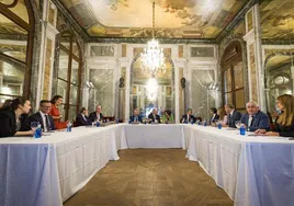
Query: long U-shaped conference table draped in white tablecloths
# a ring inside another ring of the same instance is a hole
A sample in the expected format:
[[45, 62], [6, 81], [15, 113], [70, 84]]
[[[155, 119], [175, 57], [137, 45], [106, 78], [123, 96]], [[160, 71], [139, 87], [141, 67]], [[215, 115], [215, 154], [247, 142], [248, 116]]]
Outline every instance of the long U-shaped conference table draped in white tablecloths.
[[294, 141], [188, 124], [113, 124], [38, 139], [0, 138], [0, 205], [63, 205], [128, 148], [185, 149], [235, 205], [294, 205]]

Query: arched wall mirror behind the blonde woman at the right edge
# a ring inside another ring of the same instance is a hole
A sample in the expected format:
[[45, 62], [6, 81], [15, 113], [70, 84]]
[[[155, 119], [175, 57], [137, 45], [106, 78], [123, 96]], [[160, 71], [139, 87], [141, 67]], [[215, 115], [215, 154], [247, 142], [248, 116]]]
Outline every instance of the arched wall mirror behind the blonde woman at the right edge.
[[267, 110], [273, 112], [279, 95], [294, 94], [291, 53], [274, 53], [265, 59]]

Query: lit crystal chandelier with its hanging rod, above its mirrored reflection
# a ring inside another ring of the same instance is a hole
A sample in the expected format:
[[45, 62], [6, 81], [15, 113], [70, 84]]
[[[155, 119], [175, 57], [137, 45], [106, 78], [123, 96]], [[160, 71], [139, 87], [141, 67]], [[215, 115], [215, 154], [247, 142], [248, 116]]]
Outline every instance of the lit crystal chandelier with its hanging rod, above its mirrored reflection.
[[152, 39], [148, 42], [148, 47], [140, 54], [143, 71], [151, 77], [156, 72], [166, 72], [163, 49], [159, 48], [158, 41], [155, 39], [155, 2], [152, 2]]

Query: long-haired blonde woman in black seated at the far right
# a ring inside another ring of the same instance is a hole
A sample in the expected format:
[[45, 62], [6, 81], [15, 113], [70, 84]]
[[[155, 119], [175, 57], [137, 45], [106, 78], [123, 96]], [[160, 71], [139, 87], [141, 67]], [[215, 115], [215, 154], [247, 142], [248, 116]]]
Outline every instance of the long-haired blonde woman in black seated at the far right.
[[258, 129], [256, 134], [265, 136], [294, 137], [294, 96], [283, 94], [276, 98], [276, 108], [281, 111], [274, 124], [272, 131]]

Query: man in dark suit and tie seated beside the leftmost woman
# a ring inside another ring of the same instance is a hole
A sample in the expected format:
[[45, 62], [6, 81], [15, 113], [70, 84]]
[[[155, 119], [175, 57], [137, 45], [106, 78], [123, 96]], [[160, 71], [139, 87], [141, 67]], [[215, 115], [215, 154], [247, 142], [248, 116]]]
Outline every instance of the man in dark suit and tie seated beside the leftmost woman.
[[55, 125], [53, 122], [52, 115], [49, 112], [52, 110], [52, 103], [48, 100], [42, 100], [39, 102], [39, 111], [35, 114], [32, 114], [29, 117], [29, 124], [31, 125], [32, 122], [38, 122], [42, 126], [42, 129], [46, 133], [49, 130], [55, 130]]

